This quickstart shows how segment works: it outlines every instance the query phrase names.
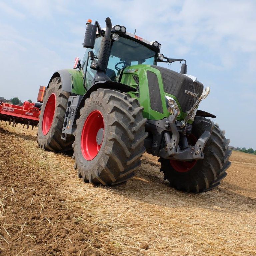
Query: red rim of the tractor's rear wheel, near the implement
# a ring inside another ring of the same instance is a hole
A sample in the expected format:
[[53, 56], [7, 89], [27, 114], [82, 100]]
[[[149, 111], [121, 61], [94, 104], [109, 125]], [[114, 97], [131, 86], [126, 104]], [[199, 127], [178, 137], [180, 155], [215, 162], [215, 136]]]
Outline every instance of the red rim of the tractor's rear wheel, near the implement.
[[46, 102], [46, 106], [43, 114], [42, 132], [46, 135], [52, 126], [52, 121], [55, 113], [56, 95], [52, 93]]

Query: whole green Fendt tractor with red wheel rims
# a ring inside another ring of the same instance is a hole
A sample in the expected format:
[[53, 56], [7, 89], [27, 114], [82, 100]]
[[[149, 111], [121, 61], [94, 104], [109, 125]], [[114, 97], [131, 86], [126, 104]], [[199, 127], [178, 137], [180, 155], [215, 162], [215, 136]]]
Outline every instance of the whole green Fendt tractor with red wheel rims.
[[[229, 141], [198, 105], [209, 94], [186, 61], [160, 54], [161, 44], [86, 23], [84, 58], [55, 72], [47, 86], [38, 144], [55, 152], [74, 149], [85, 182], [107, 186], [134, 176], [141, 156], [159, 157], [170, 186], [205, 192], [220, 184], [230, 166]], [[181, 72], [157, 66], [184, 61]]]

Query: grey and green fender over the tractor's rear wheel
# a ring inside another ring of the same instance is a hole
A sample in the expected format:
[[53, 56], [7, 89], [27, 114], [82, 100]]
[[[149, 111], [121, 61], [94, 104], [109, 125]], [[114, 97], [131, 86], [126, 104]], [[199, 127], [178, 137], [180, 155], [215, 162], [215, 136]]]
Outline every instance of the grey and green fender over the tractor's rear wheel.
[[61, 85], [62, 85], [62, 90], [66, 92], [70, 92], [76, 95], [84, 95], [86, 92], [86, 89], [83, 86], [83, 72], [82, 70], [74, 70], [74, 69], [62, 69], [56, 71], [48, 85], [47, 88], [49, 87], [50, 82], [52, 79], [60, 77], [61, 78]]

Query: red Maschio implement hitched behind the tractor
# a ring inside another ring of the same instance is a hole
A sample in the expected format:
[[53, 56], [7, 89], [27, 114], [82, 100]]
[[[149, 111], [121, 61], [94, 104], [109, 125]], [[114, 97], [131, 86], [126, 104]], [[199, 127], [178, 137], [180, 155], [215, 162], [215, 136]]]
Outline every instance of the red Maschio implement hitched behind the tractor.
[[40, 115], [40, 103], [30, 103], [25, 101], [23, 106], [17, 106], [8, 103], [0, 102], [0, 120], [9, 122], [9, 125], [13, 122], [12, 126], [23, 124], [23, 128], [27, 125], [27, 129], [32, 125], [38, 125]]

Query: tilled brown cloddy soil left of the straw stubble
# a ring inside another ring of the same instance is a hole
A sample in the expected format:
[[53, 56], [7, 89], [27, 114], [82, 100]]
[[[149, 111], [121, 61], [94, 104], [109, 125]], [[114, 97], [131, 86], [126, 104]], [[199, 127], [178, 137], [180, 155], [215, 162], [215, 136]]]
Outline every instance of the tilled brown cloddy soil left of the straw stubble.
[[63, 202], [38, 159], [26, 158], [23, 139], [0, 127], [0, 255], [99, 255], [104, 229], [81, 223], [83, 212]]

